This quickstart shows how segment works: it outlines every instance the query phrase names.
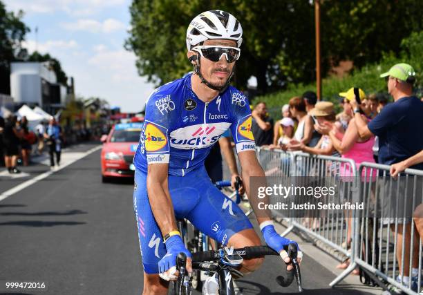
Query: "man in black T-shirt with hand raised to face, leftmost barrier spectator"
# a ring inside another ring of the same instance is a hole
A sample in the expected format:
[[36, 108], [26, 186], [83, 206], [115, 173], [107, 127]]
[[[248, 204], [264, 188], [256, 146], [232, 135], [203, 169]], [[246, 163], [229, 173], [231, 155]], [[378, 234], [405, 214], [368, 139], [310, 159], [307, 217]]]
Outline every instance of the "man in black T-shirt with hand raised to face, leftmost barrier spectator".
[[272, 144], [273, 119], [267, 114], [266, 104], [259, 102], [252, 111], [252, 133], [256, 146]]

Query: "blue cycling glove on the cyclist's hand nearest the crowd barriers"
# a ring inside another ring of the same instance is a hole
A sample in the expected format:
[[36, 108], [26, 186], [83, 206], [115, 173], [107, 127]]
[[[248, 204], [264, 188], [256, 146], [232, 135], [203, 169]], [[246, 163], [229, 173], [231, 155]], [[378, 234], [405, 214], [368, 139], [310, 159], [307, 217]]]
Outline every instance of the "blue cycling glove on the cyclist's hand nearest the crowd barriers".
[[286, 257], [288, 257], [288, 253], [286, 252], [286, 250], [288, 249], [288, 245], [290, 244], [294, 244], [295, 246], [297, 246], [297, 257], [300, 259], [303, 257], [303, 252], [301, 252], [301, 250], [299, 249], [297, 242], [294, 242], [293, 240], [290, 240], [288, 238], [281, 237], [274, 229], [274, 225], [272, 224], [272, 222], [263, 222], [260, 225], [260, 228], [267, 246], [274, 249], [274, 251], [278, 252], [284, 260]]

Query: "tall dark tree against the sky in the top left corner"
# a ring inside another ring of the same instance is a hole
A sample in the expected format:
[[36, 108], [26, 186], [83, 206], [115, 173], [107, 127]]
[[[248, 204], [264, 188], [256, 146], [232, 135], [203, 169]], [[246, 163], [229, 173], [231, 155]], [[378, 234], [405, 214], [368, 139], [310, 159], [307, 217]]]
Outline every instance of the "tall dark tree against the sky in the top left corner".
[[23, 12], [6, 11], [0, 1], [0, 93], [10, 94], [10, 62], [21, 53], [21, 42], [30, 29], [21, 21]]

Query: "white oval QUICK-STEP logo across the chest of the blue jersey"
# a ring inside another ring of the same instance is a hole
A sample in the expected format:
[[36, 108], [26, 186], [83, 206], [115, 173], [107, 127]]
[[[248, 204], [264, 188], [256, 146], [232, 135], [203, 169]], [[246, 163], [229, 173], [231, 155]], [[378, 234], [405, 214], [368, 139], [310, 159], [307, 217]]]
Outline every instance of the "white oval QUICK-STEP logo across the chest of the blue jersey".
[[218, 141], [230, 123], [197, 124], [170, 133], [170, 145], [177, 149], [203, 149]]

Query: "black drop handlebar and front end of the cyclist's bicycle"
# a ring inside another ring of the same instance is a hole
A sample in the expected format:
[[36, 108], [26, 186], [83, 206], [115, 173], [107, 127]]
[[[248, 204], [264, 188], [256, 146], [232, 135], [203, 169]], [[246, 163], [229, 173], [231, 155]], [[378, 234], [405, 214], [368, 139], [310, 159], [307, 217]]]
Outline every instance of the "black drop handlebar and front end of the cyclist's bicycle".
[[[295, 244], [288, 245], [288, 256], [291, 258], [292, 270], [287, 271], [288, 276], [277, 276], [276, 282], [281, 287], [288, 287], [297, 280], [299, 292], [303, 291], [301, 285], [301, 272], [297, 262], [297, 247]], [[192, 269], [204, 270], [214, 273], [218, 278], [218, 294], [235, 295], [232, 274], [243, 277], [236, 267], [243, 263], [243, 259], [261, 258], [267, 255], [279, 256], [279, 254], [267, 246], [244, 247], [239, 249], [220, 247], [217, 251], [201, 251], [192, 254]], [[207, 262], [207, 263], [205, 263]], [[178, 295], [191, 294], [191, 282], [186, 269], [187, 256], [178, 254], [176, 265], [179, 270], [178, 280], [176, 280], [176, 293]]]

